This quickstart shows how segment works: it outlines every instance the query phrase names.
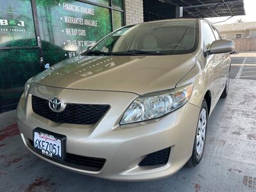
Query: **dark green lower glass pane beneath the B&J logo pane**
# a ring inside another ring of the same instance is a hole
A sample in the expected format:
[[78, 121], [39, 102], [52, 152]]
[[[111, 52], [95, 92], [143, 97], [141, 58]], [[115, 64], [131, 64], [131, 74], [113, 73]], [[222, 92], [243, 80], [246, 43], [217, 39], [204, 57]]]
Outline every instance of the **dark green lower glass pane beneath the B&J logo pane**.
[[40, 72], [39, 49], [0, 50], [0, 111], [19, 101], [25, 82]]

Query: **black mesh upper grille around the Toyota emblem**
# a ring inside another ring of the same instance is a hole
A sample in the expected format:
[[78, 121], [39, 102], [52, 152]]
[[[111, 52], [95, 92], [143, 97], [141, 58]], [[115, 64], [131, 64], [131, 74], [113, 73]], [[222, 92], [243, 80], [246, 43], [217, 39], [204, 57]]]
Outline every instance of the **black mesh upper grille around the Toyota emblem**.
[[49, 101], [32, 96], [33, 111], [52, 122], [60, 124], [96, 124], [108, 111], [109, 105], [101, 104], [71, 104], [68, 103], [65, 110], [59, 113], [49, 108]]

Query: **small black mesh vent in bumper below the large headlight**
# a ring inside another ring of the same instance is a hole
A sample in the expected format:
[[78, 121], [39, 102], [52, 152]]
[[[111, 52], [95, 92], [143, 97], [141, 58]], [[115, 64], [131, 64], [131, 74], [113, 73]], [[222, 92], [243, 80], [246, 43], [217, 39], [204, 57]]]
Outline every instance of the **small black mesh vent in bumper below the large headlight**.
[[139, 166], [151, 166], [168, 163], [170, 156], [171, 148], [164, 148], [152, 154], [148, 154], [144, 159], [139, 163]]

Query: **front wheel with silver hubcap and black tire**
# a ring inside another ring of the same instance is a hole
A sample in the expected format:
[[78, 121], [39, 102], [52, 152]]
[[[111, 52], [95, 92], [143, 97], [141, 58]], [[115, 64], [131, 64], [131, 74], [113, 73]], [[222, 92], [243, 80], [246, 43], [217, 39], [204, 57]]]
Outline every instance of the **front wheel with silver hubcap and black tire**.
[[[202, 125], [202, 122], [203, 122], [203, 125]], [[187, 162], [187, 165], [189, 167], [196, 166], [198, 163], [200, 163], [202, 157], [204, 156], [207, 122], [208, 122], [208, 108], [207, 108], [207, 102], [204, 99], [201, 110], [200, 110], [200, 114], [198, 117], [192, 156]]]

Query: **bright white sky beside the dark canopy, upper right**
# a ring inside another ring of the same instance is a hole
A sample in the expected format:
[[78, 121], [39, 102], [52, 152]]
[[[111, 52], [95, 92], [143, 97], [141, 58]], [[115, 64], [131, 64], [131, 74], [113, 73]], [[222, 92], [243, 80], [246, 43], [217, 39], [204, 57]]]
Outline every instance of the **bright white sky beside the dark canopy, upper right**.
[[246, 15], [234, 16], [231, 19], [228, 19], [228, 17], [212, 17], [205, 19], [210, 20], [212, 23], [228, 19], [227, 21], [218, 24], [234, 23], [237, 19], [243, 19], [244, 22], [256, 21], [256, 0], [244, 0], [244, 9]]

